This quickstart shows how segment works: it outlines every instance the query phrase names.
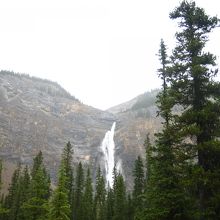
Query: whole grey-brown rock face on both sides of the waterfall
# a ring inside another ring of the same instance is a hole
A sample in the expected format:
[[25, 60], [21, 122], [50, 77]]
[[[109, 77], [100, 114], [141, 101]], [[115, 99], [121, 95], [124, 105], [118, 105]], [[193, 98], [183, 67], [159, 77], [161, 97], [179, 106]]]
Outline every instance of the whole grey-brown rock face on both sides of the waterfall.
[[74, 161], [89, 163], [95, 172], [101, 163], [101, 142], [116, 121], [116, 160], [131, 186], [133, 162], [144, 155], [146, 134], [152, 136], [160, 127], [154, 104], [157, 92], [101, 111], [82, 104], [57, 83], [1, 71], [0, 157], [7, 164], [31, 164], [41, 150], [53, 177], [70, 141]]

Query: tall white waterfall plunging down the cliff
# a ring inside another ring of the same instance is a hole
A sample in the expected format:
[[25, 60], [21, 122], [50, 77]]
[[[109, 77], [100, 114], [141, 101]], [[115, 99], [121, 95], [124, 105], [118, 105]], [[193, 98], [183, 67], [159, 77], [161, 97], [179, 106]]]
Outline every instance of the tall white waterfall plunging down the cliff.
[[111, 130], [106, 132], [101, 145], [101, 150], [104, 154], [106, 181], [110, 187], [113, 186], [113, 169], [115, 165], [115, 142], [114, 142], [115, 126], [116, 123], [114, 122]]

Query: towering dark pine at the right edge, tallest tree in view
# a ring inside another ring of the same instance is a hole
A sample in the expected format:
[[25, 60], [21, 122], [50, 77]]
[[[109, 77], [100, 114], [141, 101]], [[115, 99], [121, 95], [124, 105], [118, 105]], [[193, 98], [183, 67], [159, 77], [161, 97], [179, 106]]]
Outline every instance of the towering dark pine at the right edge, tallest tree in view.
[[170, 17], [179, 20], [180, 28], [171, 60], [170, 95], [183, 109], [175, 122], [182, 139], [179, 147], [185, 151], [190, 171], [188, 188], [198, 203], [194, 217], [219, 219], [220, 84], [213, 80], [217, 70], [211, 69], [216, 57], [204, 50], [208, 34], [219, 20], [208, 16], [195, 2], [187, 1]]

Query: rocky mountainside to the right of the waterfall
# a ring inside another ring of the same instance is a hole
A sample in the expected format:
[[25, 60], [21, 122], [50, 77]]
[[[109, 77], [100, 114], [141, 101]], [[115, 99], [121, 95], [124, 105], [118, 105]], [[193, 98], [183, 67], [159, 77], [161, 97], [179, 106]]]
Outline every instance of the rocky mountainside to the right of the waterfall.
[[126, 103], [108, 109], [115, 114], [118, 125], [115, 134], [116, 158], [122, 161], [122, 168], [129, 188], [132, 187], [132, 170], [138, 155], [145, 159], [144, 141], [147, 134], [154, 141], [154, 134], [161, 128], [155, 105], [159, 90], [142, 94]]

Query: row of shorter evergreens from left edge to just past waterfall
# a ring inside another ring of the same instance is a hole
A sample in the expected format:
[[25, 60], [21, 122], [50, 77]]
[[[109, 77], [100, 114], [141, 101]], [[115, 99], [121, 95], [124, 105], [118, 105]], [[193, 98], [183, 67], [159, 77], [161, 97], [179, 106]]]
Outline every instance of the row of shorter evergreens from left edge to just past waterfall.
[[[1, 220], [128, 220], [134, 219], [135, 206], [144, 184], [143, 163], [135, 167], [135, 188], [127, 194], [123, 176], [113, 170], [113, 187], [106, 187], [101, 169], [93, 184], [90, 168], [80, 162], [73, 169], [73, 149], [65, 146], [58, 172], [57, 186], [52, 189], [43, 154], [39, 152], [33, 166], [18, 165], [8, 194], [0, 201]], [[0, 166], [2, 168], [2, 164]], [[75, 170], [75, 172], [74, 172]], [[140, 172], [140, 173], [139, 173]], [[134, 200], [133, 200], [134, 199]]]

